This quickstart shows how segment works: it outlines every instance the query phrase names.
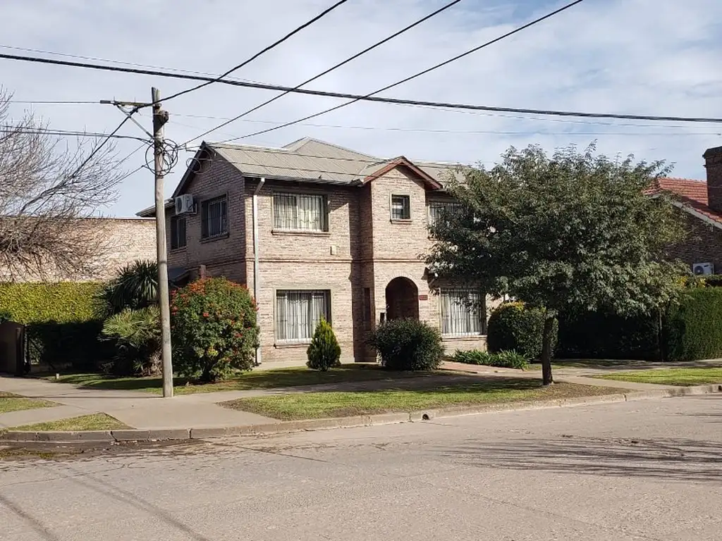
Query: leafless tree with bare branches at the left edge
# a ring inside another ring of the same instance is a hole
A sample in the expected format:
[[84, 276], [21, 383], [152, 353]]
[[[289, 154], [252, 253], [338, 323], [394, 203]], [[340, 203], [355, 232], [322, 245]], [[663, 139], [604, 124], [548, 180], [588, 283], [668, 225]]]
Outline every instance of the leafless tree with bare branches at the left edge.
[[87, 279], [110, 247], [100, 209], [117, 197], [120, 170], [112, 144], [69, 144], [25, 113], [9, 118], [0, 88], [0, 280]]

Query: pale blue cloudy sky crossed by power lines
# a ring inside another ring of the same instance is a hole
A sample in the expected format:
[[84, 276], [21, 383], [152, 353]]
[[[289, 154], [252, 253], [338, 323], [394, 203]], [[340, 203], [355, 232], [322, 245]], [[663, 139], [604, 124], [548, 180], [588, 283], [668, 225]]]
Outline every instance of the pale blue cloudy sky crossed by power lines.
[[[331, 6], [332, 0], [4, 0], [0, 52], [103, 58], [166, 71], [221, 74]], [[445, 4], [442, 0], [349, 0], [232, 77], [295, 86]], [[308, 85], [365, 94], [456, 56], [566, 2], [463, 0], [365, 56]], [[55, 53], [32, 53], [20, 48]], [[722, 2], [584, 0], [547, 21], [381, 95], [474, 105], [593, 113], [722, 118]], [[82, 60], [80, 60], [82, 61]], [[116, 64], [117, 65], [117, 64]], [[11, 114], [25, 110], [50, 128], [112, 131], [123, 119], [112, 105], [50, 105], [48, 100], [148, 101], [193, 86], [176, 79], [113, 74], [0, 59], [0, 86], [13, 93]], [[164, 102], [168, 138], [196, 137], [274, 92], [213, 84]], [[287, 95], [206, 136], [241, 137], [302, 118], [340, 100]], [[147, 110], [146, 110], [147, 111]], [[151, 118], [134, 118], [150, 130]], [[143, 137], [126, 123], [123, 135]], [[491, 165], [509, 146], [587, 146], [609, 156], [674, 164], [672, 176], [703, 180], [702, 154], [722, 145], [722, 124], [587, 120], [434, 110], [358, 102], [243, 144], [283, 146], [310, 136], [378, 157]], [[116, 143], [126, 157], [139, 142]], [[192, 154], [181, 152], [166, 195]], [[144, 163], [142, 152], [123, 167]], [[123, 181], [108, 216], [133, 216], [153, 203], [153, 177]]]

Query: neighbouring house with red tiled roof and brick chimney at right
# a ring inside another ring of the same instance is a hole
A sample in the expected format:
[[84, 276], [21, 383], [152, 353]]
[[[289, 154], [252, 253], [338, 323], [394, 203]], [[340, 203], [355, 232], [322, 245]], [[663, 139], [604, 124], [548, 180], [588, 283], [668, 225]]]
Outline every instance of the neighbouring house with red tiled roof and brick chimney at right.
[[707, 182], [663, 178], [654, 190], [671, 193], [685, 214], [688, 237], [671, 248], [671, 255], [695, 273], [722, 274], [722, 146], [708, 149], [703, 157]]

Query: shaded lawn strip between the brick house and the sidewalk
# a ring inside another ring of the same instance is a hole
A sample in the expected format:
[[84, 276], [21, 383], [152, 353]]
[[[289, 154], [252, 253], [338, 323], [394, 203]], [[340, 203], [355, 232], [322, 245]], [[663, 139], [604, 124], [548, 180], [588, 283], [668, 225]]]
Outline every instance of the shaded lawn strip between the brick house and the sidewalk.
[[[305, 366], [293, 368], [253, 370], [225, 382], [193, 384], [183, 378], [173, 380], [175, 394], [188, 395], [194, 392], [243, 391], [251, 389], [277, 389], [299, 385], [318, 385], [344, 382], [369, 382], [401, 377], [423, 377], [423, 372], [389, 373], [376, 364], [344, 364], [327, 372], [309, 370]], [[162, 392], [160, 377], [109, 377], [103, 374], [69, 374], [51, 381], [71, 383], [92, 389], [137, 390]]]

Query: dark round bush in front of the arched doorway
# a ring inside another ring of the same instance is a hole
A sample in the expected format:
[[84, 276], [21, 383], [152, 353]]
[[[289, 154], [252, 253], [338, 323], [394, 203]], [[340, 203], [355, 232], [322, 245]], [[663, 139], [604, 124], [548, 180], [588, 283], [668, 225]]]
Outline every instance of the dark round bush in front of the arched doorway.
[[439, 331], [419, 320], [391, 320], [370, 340], [388, 370], [435, 370], [443, 361]]

